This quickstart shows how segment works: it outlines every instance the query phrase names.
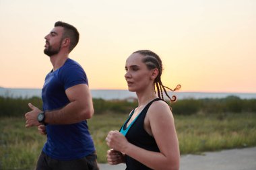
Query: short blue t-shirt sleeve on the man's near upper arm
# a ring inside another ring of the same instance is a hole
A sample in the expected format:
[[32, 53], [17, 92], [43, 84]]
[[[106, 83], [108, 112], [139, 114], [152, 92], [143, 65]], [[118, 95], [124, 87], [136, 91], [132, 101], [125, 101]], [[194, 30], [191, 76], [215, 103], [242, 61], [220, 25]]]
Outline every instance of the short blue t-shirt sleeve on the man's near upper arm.
[[61, 79], [65, 90], [74, 85], [88, 85], [86, 73], [79, 65], [69, 65], [69, 67], [62, 68], [59, 71], [59, 79]]

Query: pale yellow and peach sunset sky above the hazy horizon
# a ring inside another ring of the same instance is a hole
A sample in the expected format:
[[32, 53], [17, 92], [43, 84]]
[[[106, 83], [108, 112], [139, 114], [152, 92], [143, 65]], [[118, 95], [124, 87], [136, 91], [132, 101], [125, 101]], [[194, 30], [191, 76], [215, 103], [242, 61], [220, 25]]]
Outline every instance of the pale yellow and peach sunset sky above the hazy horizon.
[[69, 57], [90, 89], [127, 89], [126, 58], [149, 49], [170, 88], [256, 93], [255, 0], [0, 0], [0, 87], [42, 87], [44, 36], [57, 21], [80, 33]]

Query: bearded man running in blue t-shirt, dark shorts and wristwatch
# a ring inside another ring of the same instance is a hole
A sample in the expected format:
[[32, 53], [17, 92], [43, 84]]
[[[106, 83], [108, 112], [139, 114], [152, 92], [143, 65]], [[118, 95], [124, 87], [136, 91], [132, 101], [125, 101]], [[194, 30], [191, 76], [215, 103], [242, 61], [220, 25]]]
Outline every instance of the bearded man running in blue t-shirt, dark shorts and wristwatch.
[[98, 169], [86, 122], [94, 114], [88, 79], [84, 69], [69, 58], [79, 32], [56, 22], [44, 38], [44, 54], [50, 57], [53, 70], [42, 88], [43, 111], [28, 103], [32, 111], [25, 114], [27, 128], [38, 126], [41, 134], [47, 134], [36, 169]]

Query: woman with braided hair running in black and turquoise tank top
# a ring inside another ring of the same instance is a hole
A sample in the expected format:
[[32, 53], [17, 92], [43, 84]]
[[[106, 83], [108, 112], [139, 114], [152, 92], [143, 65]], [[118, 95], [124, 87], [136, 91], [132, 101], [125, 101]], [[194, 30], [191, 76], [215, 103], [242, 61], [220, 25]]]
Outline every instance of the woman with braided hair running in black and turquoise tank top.
[[[133, 52], [126, 60], [125, 80], [129, 91], [135, 91], [138, 107], [131, 111], [120, 132], [110, 131], [106, 144], [110, 165], [126, 163], [127, 170], [179, 169], [179, 142], [174, 118], [163, 100], [162, 61], [150, 50]], [[157, 94], [156, 95], [156, 89]], [[181, 85], [177, 85], [179, 89]], [[171, 101], [175, 101], [173, 96]]]

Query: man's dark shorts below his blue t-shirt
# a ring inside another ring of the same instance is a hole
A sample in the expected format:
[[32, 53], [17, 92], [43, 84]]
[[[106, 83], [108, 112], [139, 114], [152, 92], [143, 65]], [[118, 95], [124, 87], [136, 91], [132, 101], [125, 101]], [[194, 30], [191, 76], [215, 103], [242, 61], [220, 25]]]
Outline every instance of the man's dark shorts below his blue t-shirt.
[[98, 170], [97, 155], [92, 153], [82, 159], [75, 159], [71, 161], [59, 161], [47, 156], [44, 152], [41, 152], [36, 170]]

